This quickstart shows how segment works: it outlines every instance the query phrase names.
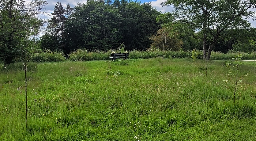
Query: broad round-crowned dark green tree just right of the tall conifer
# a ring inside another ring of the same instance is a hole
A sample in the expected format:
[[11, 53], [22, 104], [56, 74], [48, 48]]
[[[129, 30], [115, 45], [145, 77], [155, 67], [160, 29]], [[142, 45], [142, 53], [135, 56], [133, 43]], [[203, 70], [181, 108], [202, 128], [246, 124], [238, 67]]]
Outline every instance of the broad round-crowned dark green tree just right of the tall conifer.
[[65, 25], [67, 52], [86, 48], [109, 50], [119, 46], [121, 15], [102, 1], [88, 0], [79, 4]]

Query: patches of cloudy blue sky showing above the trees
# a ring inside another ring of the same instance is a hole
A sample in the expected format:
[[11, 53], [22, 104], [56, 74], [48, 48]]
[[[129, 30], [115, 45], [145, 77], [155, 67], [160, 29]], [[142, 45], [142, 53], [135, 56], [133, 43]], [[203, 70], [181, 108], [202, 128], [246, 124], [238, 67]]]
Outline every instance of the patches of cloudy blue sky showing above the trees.
[[[27, 0], [27, 2], [29, 2], [30, 0]], [[59, 1], [64, 8], [67, 7], [68, 4], [70, 4], [71, 7], [75, 7], [77, 5], [77, 3], [86, 3], [87, 0], [47, 0], [47, 5], [45, 6], [45, 11], [48, 13], [45, 16], [39, 15], [39, 18], [41, 19], [47, 19], [47, 18], [51, 18], [52, 15], [51, 13], [53, 13], [54, 11], [54, 6], [56, 5], [57, 1]], [[139, 1], [139, 0], [137, 0]], [[161, 3], [164, 2], [166, 0], [141, 0], [141, 3], [145, 2], [145, 3], [151, 3], [151, 5], [153, 7], [155, 7], [158, 11], [161, 11], [162, 13], [164, 12], [171, 12], [172, 11], [172, 7], [162, 7]], [[256, 10], [255, 10], [256, 11]], [[249, 19], [249, 22], [252, 24], [252, 27], [256, 28], [256, 21], [253, 21], [252, 19]], [[44, 33], [40, 33], [38, 36], [43, 35]]]

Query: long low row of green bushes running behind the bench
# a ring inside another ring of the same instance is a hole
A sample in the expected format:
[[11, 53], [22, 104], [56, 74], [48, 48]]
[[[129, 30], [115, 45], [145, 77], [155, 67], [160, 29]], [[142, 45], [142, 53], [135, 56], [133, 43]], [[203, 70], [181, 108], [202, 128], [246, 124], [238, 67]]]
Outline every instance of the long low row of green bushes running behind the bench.
[[[114, 50], [114, 52], [120, 52], [119, 50]], [[197, 59], [203, 58], [203, 52], [197, 50], [199, 53], [196, 57]], [[70, 61], [90, 61], [90, 60], [109, 60], [109, 54], [111, 50], [108, 52], [103, 51], [94, 51], [89, 52], [88, 50], [76, 50], [75, 52], [71, 52], [68, 56], [68, 60]], [[192, 52], [184, 52], [184, 51], [165, 51], [164, 58], [191, 58]], [[220, 53], [220, 52], [212, 52], [212, 60], [232, 60], [232, 58], [238, 55], [238, 52], [229, 52], [229, 53]], [[254, 53], [243, 53], [242, 60], [253, 60], [255, 54]], [[150, 50], [150, 51], [139, 51], [132, 50], [129, 52], [130, 59], [148, 59], [148, 58], [158, 58], [162, 57], [163, 52], [161, 50]], [[41, 60], [41, 61], [40, 61]], [[16, 60], [16, 62], [22, 61], [21, 59]], [[57, 62], [57, 61], [65, 61], [65, 57], [63, 54], [58, 52], [46, 52], [46, 53], [33, 53], [30, 56], [30, 61], [33, 62]]]

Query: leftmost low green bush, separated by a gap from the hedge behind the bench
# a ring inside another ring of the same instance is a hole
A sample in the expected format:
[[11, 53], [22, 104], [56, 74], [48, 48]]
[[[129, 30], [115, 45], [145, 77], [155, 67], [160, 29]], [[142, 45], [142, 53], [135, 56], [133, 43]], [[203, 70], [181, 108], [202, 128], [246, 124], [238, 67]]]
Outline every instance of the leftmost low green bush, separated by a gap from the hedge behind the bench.
[[64, 54], [61, 52], [44, 52], [44, 53], [33, 53], [30, 56], [30, 61], [33, 62], [61, 62], [65, 61]]

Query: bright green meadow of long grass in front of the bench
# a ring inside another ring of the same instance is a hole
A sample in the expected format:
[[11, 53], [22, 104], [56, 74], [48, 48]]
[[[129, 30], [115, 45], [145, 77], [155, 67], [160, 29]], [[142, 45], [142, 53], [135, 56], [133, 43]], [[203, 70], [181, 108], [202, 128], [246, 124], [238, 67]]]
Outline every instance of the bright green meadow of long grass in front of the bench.
[[235, 103], [224, 61], [208, 62], [207, 75], [191, 59], [37, 65], [27, 130], [24, 72], [14, 66], [0, 71], [1, 141], [256, 140], [254, 62], [241, 65]]

